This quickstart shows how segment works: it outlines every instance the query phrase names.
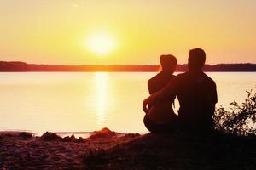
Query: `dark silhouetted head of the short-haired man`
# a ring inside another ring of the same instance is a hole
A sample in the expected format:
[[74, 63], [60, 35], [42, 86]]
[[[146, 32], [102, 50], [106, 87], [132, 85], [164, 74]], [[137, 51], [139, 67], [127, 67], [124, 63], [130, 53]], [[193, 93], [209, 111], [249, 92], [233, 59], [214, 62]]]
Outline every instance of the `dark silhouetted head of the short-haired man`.
[[189, 51], [189, 71], [201, 71], [206, 62], [206, 53], [201, 48]]

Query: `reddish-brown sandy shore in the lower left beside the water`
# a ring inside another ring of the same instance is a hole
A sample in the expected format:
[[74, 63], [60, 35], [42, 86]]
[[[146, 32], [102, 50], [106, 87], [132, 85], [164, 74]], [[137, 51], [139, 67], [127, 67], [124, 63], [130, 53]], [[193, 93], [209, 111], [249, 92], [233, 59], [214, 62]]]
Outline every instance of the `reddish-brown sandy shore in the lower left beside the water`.
[[108, 128], [89, 138], [61, 138], [55, 133], [41, 137], [31, 133], [0, 134], [0, 169], [83, 169], [83, 157], [136, 139], [139, 134], [115, 133]]

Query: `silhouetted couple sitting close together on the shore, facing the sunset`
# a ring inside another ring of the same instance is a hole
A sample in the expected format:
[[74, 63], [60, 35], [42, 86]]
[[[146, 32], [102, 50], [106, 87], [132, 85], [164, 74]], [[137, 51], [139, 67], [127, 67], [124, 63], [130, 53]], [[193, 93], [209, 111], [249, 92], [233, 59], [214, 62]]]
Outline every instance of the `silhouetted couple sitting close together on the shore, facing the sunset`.
[[[177, 59], [172, 55], [160, 56], [162, 70], [148, 80], [150, 96], [143, 101], [144, 124], [150, 132], [169, 132], [177, 128], [212, 131], [217, 92], [215, 82], [202, 71], [205, 61], [203, 49], [191, 49], [189, 71], [175, 77]], [[172, 109], [176, 96], [180, 105], [178, 116]]]

